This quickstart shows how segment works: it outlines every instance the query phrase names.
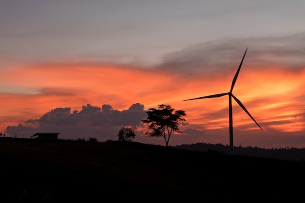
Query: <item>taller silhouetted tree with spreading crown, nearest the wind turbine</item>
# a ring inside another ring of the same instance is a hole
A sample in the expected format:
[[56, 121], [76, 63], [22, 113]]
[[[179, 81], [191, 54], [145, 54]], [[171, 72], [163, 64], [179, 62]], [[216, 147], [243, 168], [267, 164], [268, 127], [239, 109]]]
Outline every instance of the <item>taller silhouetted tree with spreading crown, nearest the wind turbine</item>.
[[151, 132], [147, 131], [145, 134], [149, 137], [163, 137], [166, 147], [168, 147], [172, 132], [179, 132], [178, 122], [185, 121], [182, 116], [185, 116], [185, 111], [179, 110], [173, 113], [174, 109], [170, 105], [159, 104], [158, 109], [151, 108], [146, 113], [147, 119], [142, 122], [149, 124], [148, 129], [152, 129]]

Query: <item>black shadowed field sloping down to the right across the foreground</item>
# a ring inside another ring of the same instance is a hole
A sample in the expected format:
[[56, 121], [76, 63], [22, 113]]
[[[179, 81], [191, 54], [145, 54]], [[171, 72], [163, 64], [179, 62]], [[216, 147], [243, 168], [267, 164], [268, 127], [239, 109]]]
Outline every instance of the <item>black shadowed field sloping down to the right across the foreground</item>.
[[0, 139], [0, 203], [294, 202], [305, 162], [141, 143]]

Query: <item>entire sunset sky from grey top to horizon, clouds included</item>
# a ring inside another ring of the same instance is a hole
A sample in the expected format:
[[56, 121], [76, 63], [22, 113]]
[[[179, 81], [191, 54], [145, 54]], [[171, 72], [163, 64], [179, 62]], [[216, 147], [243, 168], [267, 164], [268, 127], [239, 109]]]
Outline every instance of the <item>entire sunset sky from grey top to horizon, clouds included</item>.
[[0, 131], [165, 145], [145, 111], [186, 112], [169, 145], [305, 148], [304, 0], [1, 0]]

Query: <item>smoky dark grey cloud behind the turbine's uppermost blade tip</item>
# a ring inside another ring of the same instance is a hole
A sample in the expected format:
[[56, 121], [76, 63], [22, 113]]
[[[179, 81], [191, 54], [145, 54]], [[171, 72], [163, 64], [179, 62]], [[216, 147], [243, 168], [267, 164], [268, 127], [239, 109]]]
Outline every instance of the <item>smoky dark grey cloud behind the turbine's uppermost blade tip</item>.
[[239, 66], [248, 47], [248, 66], [304, 67], [305, 33], [277, 37], [221, 38], [165, 55], [158, 68], [185, 74], [226, 71]]

